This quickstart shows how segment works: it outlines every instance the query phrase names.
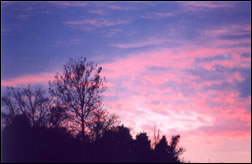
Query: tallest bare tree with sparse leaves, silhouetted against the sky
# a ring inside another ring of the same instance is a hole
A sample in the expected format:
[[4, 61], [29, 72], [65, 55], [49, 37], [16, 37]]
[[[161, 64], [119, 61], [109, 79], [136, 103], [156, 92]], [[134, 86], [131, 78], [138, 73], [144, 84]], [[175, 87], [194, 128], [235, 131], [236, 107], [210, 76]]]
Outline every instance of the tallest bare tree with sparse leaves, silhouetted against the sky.
[[61, 104], [72, 117], [70, 123], [80, 133], [82, 139], [88, 128], [86, 123], [92, 119], [92, 113], [102, 107], [101, 93], [104, 80], [100, 76], [102, 67], [87, 62], [85, 57], [70, 59], [64, 65], [64, 72], [57, 73], [54, 81], [49, 82], [49, 92], [54, 103]]

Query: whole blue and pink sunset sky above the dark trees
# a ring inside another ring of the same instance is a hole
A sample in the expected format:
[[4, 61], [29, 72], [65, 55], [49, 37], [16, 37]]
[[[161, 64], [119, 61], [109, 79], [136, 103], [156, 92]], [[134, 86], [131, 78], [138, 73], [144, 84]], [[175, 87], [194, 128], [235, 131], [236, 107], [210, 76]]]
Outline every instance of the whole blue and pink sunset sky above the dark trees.
[[1, 93], [81, 56], [132, 134], [180, 134], [185, 161], [251, 162], [251, 2], [1, 1]]

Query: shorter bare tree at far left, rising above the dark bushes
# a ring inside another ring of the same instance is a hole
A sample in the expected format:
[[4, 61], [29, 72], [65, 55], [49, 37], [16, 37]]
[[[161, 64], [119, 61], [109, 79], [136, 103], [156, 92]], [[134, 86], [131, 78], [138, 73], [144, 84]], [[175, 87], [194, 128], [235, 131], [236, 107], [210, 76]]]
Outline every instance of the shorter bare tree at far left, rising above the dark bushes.
[[7, 87], [1, 98], [3, 122], [8, 125], [17, 115], [26, 115], [32, 126], [46, 126], [49, 116], [49, 99], [41, 87]]

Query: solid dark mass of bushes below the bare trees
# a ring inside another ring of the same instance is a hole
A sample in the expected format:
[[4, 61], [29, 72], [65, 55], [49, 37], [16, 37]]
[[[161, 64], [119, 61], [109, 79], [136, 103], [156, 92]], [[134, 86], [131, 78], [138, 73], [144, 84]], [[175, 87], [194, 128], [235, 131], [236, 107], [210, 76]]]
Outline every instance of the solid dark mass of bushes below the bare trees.
[[95, 141], [83, 142], [65, 128], [31, 127], [16, 116], [2, 133], [2, 162], [171, 162], [179, 163], [179, 136], [168, 144], [163, 138], [151, 148], [146, 133], [133, 139], [130, 130], [117, 126]]

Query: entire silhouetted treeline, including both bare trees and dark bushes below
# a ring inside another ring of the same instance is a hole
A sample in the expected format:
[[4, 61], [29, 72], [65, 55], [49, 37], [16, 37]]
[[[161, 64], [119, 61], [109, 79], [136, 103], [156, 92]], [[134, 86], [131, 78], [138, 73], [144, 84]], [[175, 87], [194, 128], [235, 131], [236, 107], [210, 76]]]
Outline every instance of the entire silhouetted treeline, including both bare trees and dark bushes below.
[[70, 59], [64, 72], [41, 87], [8, 87], [2, 97], [2, 162], [180, 163], [180, 136], [133, 139], [130, 129], [102, 106], [102, 68]]

